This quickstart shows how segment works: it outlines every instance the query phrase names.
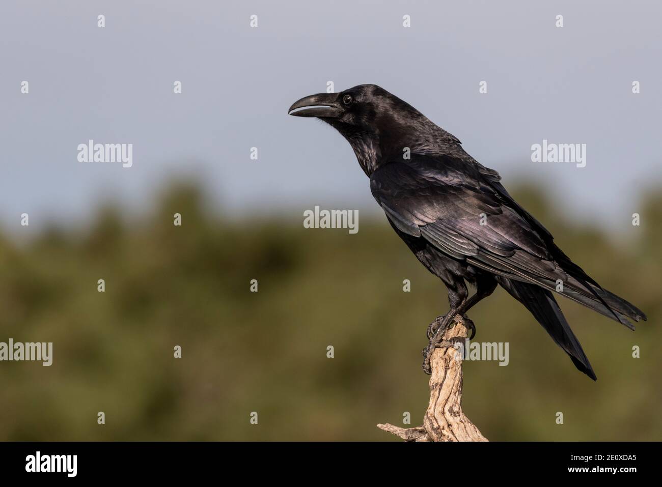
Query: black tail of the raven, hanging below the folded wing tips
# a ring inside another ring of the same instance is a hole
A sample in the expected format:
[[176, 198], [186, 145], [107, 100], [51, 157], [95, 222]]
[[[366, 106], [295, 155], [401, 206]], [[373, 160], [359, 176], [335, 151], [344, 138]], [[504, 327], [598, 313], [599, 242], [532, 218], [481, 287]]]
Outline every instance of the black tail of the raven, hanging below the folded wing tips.
[[570, 355], [577, 369], [597, 380], [579, 340], [570, 329], [561, 308], [549, 290], [504, 277], [499, 279], [499, 283], [512, 297], [526, 306], [557, 345]]

